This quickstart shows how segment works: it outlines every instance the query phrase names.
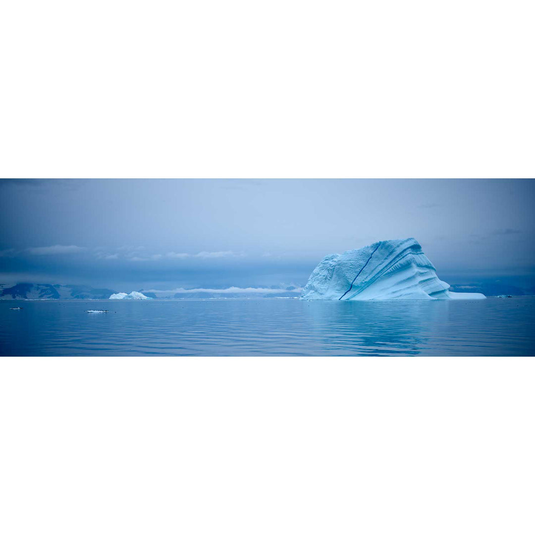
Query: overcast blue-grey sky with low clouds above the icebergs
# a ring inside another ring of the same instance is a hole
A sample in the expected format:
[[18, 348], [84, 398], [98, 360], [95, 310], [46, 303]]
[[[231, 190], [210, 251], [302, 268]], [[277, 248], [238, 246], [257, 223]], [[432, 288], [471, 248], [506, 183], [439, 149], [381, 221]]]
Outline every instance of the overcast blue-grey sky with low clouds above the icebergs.
[[416, 238], [439, 277], [532, 276], [533, 180], [0, 180], [0, 282], [303, 286]]

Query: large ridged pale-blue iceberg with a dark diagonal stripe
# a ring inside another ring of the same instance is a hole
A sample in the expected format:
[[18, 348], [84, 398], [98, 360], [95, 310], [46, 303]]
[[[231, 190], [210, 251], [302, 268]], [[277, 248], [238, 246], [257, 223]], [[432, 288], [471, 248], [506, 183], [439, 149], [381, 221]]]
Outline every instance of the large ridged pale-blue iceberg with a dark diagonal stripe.
[[326, 256], [312, 271], [301, 299], [485, 299], [448, 291], [414, 238], [385, 240]]

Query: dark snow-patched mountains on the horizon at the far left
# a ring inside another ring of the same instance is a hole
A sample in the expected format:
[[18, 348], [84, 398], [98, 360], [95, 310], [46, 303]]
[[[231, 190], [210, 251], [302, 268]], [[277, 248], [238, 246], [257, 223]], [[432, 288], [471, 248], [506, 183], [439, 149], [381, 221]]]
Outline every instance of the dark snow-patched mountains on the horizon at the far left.
[[81, 285], [24, 282], [0, 287], [0, 299], [108, 299], [113, 290]]

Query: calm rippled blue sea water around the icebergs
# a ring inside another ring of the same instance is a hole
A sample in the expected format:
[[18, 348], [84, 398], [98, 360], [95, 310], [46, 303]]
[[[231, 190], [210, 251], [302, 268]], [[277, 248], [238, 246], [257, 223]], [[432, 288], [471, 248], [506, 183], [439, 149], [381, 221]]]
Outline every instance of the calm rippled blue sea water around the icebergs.
[[0, 355], [534, 355], [534, 325], [535, 297], [0, 301]]

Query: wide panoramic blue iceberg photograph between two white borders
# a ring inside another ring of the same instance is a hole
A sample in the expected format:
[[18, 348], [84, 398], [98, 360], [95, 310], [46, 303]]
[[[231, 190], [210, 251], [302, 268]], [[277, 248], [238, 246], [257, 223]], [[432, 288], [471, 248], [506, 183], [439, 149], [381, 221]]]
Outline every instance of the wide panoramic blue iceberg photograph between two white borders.
[[535, 353], [535, 181], [2, 179], [3, 356]]

